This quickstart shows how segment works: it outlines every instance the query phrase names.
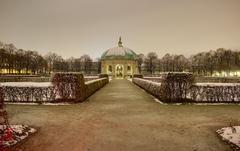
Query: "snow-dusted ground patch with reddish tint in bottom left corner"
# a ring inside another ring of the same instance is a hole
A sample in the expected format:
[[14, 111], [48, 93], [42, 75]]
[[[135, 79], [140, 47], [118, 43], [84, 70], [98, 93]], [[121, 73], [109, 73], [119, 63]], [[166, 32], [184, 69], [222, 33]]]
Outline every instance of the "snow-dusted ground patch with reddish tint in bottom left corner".
[[[33, 134], [36, 132], [36, 129], [31, 128], [27, 125], [10, 125], [10, 127], [13, 130], [13, 137], [8, 140], [1, 139], [0, 150], [1, 150], [1, 147], [9, 147], [9, 146], [15, 145], [18, 142], [27, 138], [30, 134]], [[0, 130], [2, 130], [2, 126], [0, 127]]]

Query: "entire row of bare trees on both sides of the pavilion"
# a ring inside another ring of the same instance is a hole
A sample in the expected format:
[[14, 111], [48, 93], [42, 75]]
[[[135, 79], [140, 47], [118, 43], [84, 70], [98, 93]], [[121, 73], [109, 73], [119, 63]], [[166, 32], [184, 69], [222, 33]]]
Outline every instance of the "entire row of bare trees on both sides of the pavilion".
[[[169, 53], [160, 58], [155, 52], [150, 52], [146, 56], [139, 54], [137, 62], [139, 72], [143, 74], [169, 71], [187, 71], [205, 76], [222, 71], [229, 74], [230, 71], [240, 70], [240, 51], [219, 48], [188, 58]], [[13, 44], [0, 42], [0, 74], [50, 74], [65, 71], [98, 74], [101, 72], [101, 61], [93, 61], [89, 55], [63, 59], [49, 52], [42, 56], [36, 51], [17, 49]]]

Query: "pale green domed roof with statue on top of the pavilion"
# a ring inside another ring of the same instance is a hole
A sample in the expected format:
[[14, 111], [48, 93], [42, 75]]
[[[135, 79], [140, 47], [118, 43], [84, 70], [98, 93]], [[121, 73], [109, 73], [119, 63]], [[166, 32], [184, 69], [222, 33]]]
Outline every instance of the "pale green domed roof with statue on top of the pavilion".
[[119, 38], [118, 47], [110, 48], [102, 54], [101, 59], [124, 59], [124, 60], [136, 60], [137, 54], [127, 48], [123, 47], [121, 37]]

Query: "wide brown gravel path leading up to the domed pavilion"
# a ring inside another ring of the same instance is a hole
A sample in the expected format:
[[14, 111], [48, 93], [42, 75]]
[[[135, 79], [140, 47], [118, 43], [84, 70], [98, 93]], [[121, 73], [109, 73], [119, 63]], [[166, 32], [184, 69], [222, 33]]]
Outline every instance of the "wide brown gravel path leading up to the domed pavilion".
[[12, 124], [38, 129], [24, 151], [226, 151], [215, 131], [240, 116], [239, 105], [161, 105], [127, 80], [112, 80], [86, 102], [7, 105]]

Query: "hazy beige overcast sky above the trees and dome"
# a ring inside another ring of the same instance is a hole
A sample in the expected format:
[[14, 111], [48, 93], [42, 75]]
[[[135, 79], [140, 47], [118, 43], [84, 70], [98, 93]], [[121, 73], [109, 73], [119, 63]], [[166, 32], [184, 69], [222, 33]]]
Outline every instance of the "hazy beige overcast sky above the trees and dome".
[[64, 58], [240, 49], [240, 0], [0, 0], [0, 41]]

